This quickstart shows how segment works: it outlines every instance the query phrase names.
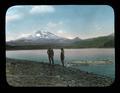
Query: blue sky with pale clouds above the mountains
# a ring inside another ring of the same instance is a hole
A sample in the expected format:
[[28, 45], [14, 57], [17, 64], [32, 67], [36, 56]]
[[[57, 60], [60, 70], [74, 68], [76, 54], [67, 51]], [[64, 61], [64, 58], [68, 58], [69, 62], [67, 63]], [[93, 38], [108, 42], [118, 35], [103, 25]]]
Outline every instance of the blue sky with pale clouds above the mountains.
[[6, 12], [6, 41], [36, 31], [81, 39], [114, 33], [114, 11], [108, 5], [19, 5]]

